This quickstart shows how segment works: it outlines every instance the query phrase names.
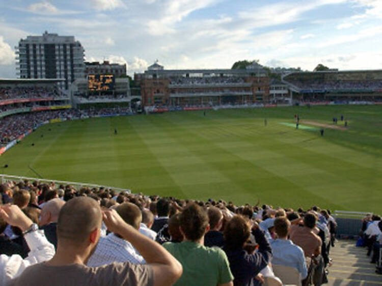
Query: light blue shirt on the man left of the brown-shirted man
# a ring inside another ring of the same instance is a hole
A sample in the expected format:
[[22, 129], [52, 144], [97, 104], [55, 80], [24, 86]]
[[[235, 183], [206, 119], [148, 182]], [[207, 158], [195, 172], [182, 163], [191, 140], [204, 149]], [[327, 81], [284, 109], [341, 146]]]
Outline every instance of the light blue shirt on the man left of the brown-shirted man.
[[305, 279], [308, 275], [307, 264], [305, 261], [304, 250], [293, 244], [290, 240], [275, 239], [270, 243], [272, 248], [272, 264], [279, 264], [296, 268], [301, 273], [301, 278]]

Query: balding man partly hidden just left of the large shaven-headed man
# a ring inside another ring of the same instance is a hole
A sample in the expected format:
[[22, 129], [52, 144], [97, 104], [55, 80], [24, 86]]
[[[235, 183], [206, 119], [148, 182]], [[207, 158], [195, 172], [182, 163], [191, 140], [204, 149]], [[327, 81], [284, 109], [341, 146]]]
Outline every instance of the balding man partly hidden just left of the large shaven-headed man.
[[61, 208], [65, 205], [65, 201], [60, 198], [53, 198], [46, 202], [41, 209], [40, 214], [40, 230], [43, 230], [47, 240], [57, 249], [57, 220]]

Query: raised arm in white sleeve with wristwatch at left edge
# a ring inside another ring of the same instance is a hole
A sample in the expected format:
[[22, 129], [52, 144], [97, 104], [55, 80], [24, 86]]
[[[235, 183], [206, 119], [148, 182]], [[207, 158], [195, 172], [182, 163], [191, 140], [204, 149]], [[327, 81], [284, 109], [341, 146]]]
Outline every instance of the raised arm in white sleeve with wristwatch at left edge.
[[4, 205], [0, 208], [0, 220], [19, 227], [31, 249], [25, 259], [18, 254], [0, 255], [0, 285], [6, 285], [10, 279], [20, 275], [26, 267], [51, 259], [54, 255], [54, 246], [46, 240], [42, 231], [38, 231], [37, 224], [34, 224], [18, 206]]

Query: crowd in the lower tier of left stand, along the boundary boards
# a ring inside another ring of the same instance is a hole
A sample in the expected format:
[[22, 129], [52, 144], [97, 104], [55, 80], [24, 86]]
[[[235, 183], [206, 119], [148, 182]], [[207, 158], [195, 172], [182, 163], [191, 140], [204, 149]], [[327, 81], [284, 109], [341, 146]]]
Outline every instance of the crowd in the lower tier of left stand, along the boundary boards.
[[0, 118], [0, 142], [6, 145], [29, 130], [52, 119], [86, 118], [129, 113], [130, 108], [100, 108], [100, 109], [62, 109], [21, 113]]

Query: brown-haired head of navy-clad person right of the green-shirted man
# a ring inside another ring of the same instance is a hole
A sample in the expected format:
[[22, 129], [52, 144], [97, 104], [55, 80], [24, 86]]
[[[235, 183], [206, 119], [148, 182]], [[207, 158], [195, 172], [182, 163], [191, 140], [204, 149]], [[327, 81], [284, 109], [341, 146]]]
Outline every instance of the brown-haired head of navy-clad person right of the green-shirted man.
[[241, 215], [235, 215], [224, 227], [225, 246], [228, 249], [242, 249], [251, 235], [250, 220]]

